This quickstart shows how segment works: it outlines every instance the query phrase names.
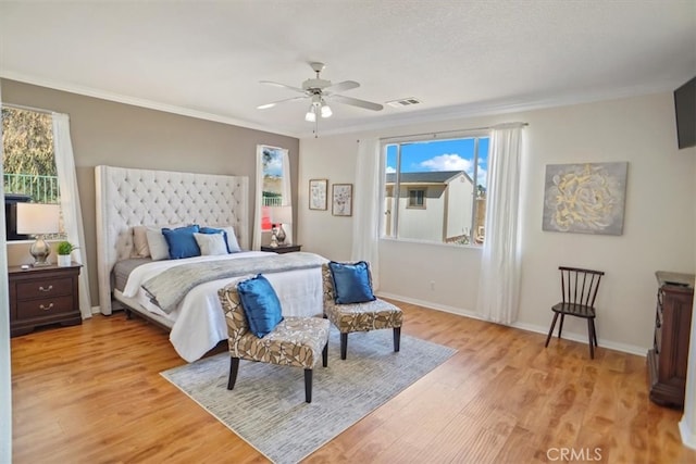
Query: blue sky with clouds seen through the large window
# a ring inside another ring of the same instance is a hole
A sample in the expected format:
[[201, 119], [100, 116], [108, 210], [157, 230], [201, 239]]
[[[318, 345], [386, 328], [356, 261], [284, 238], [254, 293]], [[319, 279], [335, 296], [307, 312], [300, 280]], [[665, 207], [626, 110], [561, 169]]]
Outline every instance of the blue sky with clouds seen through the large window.
[[[396, 146], [387, 146], [386, 172], [396, 172]], [[474, 139], [438, 140], [401, 145], [401, 172], [464, 171], [473, 178]], [[486, 186], [488, 139], [478, 139], [478, 179]]]

